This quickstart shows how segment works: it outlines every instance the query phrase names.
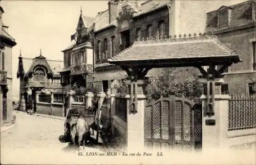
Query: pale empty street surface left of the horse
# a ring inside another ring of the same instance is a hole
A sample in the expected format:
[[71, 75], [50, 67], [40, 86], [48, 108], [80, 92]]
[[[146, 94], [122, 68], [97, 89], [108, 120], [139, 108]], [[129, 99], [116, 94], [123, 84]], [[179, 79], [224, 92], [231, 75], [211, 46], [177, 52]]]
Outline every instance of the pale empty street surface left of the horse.
[[[19, 111], [13, 111], [13, 114], [16, 115], [16, 125], [1, 132], [1, 164], [56, 163], [63, 161], [59, 156], [78, 157], [69, 143], [59, 142], [58, 138], [63, 134], [63, 120]], [[101, 146], [95, 145], [85, 150], [103, 152]]]

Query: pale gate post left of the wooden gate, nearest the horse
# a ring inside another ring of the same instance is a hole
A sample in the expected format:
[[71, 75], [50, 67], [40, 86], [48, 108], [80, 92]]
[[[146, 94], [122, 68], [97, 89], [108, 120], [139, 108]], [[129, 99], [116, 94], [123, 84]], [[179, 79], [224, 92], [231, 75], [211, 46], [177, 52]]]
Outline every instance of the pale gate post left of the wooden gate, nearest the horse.
[[[131, 85], [130, 82], [128, 82]], [[135, 88], [135, 95], [137, 92], [137, 105], [138, 109], [132, 111], [131, 107], [131, 90], [127, 98], [127, 105], [129, 109], [127, 110], [127, 150], [129, 152], [138, 152], [144, 150], [144, 109], [146, 104], [146, 81], [137, 80], [137, 91]], [[135, 103], [136, 104], [136, 103]]]

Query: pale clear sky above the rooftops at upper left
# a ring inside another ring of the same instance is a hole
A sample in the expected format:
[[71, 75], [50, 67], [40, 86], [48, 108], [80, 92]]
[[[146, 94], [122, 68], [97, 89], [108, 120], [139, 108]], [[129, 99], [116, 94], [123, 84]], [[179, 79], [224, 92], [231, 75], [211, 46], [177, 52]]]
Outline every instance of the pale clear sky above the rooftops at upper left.
[[80, 8], [83, 15], [95, 17], [108, 9], [108, 1], [0, 1], [3, 22], [17, 44], [12, 49], [13, 97], [18, 97], [16, 78], [19, 50], [23, 57], [42, 56], [63, 60], [61, 50], [71, 44]]

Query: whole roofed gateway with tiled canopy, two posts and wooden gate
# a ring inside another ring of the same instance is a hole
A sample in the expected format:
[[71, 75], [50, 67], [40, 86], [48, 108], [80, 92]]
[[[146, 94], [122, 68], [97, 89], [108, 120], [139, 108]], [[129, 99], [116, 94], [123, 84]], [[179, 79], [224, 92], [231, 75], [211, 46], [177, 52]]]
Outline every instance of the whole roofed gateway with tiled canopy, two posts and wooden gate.
[[[157, 38], [153, 40], [136, 41], [130, 48], [109, 59], [109, 63], [119, 65], [125, 70], [131, 80], [129, 87], [131, 100], [129, 112], [127, 112], [128, 149], [133, 149], [135, 146], [138, 148], [139, 144], [146, 145], [148, 143], [151, 143], [152, 146], [160, 145], [160, 148], [164, 145], [172, 148], [175, 146], [174, 144], [181, 144], [181, 147], [184, 148], [185, 144], [191, 146], [192, 143], [189, 142], [194, 140], [193, 131], [191, 131], [190, 128], [194, 127], [194, 123], [191, 122], [191, 120], [194, 120], [195, 117], [191, 115], [191, 103], [189, 103], [189, 101], [183, 99], [180, 100], [181, 102], [176, 102], [176, 100], [179, 99], [175, 97], [172, 97], [172, 99], [161, 98], [149, 106], [144, 106], [146, 99], [145, 75], [148, 70], [154, 67], [194, 66], [200, 70], [202, 78], [206, 80], [205, 82], [207, 84], [206, 96], [203, 97], [205, 101], [202, 107], [202, 145], [203, 147], [209, 144], [215, 146], [215, 144], [210, 141], [212, 137], [221, 134], [217, 133], [217, 135], [215, 135], [215, 131], [220, 132], [219, 125], [222, 125], [222, 123], [218, 123], [221, 121], [221, 116], [217, 106], [215, 106], [216, 96], [220, 97], [221, 95], [219, 80], [222, 78], [221, 74], [228, 66], [240, 61], [239, 56], [225, 44], [221, 43], [216, 37], [202, 35], [201, 33], [199, 36], [189, 34], [188, 37], [186, 37], [186, 35], [181, 37], [180, 35], [179, 38], [176, 38], [175, 35], [174, 38], [165, 37], [163, 39]], [[208, 69], [205, 70], [204, 66], [207, 66]], [[216, 66], [221, 67], [217, 70]], [[175, 127], [173, 125], [176, 124], [175, 120], [177, 116], [174, 116], [173, 111], [179, 107], [178, 104], [180, 105], [180, 112], [182, 113], [180, 115], [181, 123], [179, 127]], [[188, 105], [190, 109], [185, 109], [185, 105]], [[167, 108], [167, 106], [170, 108]], [[171, 106], [173, 108], [171, 108]], [[170, 111], [171, 109], [172, 111]], [[147, 113], [148, 110], [151, 110], [151, 113]], [[145, 116], [144, 112], [146, 112]], [[190, 113], [188, 117], [190, 124], [186, 125], [184, 122], [185, 116], [187, 116], [188, 113]], [[156, 117], [155, 114], [158, 114], [158, 117]], [[168, 117], [166, 117], [166, 115]], [[150, 122], [145, 122], [145, 125], [140, 125], [141, 119], [144, 121], [150, 119]], [[217, 119], [220, 120], [216, 121]], [[156, 125], [159, 127], [156, 127]], [[165, 125], [167, 125], [167, 127], [164, 127]], [[188, 129], [184, 129], [185, 127], [188, 127]], [[156, 131], [155, 128], [159, 131]], [[177, 140], [175, 137], [177, 130], [181, 131], [180, 135], [182, 137], [180, 140]], [[189, 130], [191, 134], [189, 134], [188, 138], [187, 131]], [[168, 137], [164, 137], [163, 132], [167, 132], [165, 136], [167, 135]], [[135, 136], [137, 136], [137, 138]], [[141, 136], [144, 138], [141, 138]], [[141, 148], [144, 148], [144, 145], [141, 146]]]

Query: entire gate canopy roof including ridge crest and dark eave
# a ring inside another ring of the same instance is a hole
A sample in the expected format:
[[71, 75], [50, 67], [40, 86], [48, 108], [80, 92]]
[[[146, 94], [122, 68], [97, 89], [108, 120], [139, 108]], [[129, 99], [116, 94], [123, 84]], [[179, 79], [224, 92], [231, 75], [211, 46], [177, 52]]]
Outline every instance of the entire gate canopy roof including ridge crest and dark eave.
[[108, 60], [116, 65], [151, 65], [152, 67], [206, 66], [237, 63], [240, 58], [214, 36], [136, 41], [130, 48]]

